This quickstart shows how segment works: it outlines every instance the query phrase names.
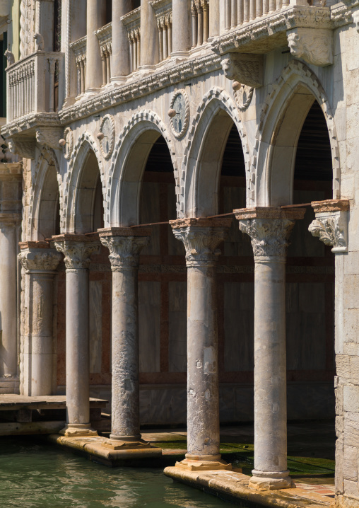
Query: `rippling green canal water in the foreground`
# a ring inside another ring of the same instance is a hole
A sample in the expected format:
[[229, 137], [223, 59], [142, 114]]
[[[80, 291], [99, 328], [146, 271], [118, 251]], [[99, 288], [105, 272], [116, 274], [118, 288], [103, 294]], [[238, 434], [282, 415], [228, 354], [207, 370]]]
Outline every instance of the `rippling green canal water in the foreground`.
[[228, 508], [161, 469], [107, 468], [33, 439], [0, 439], [1, 508]]

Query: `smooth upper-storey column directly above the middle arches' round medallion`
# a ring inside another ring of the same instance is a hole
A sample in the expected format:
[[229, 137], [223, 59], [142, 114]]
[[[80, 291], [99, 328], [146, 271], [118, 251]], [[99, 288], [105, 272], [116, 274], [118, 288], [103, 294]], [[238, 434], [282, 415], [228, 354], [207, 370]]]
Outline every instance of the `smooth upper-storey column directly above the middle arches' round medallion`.
[[172, 0], [172, 56], [187, 56], [191, 48], [191, 0]]

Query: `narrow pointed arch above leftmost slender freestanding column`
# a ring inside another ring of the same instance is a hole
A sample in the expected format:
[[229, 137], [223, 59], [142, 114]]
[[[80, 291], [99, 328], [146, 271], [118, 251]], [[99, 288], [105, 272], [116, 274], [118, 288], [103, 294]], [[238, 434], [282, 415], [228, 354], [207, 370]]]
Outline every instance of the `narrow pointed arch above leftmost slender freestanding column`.
[[[61, 207], [61, 231], [63, 233], [88, 232], [85, 231], [85, 229], [88, 229], [88, 224], [83, 224], [81, 214], [84, 209], [88, 209], [93, 204], [93, 196], [90, 193], [93, 192], [98, 179], [95, 168], [93, 168], [93, 171], [86, 172], [86, 178], [88, 179], [86, 190], [89, 192], [81, 192], [80, 186], [81, 178], [83, 178], [83, 168], [90, 157], [93, 158], [93, 162], [96, 162], [96, 169], [100, 171], [102, 196], [105, 195], [105, 173], [98, 144], [96, 144], [91, 134], [84, 132], [76, 142], [66, 174], [64, 200]], [[86, 212], [86, 214], [88, 220], [90, 220], [90, 212]]]

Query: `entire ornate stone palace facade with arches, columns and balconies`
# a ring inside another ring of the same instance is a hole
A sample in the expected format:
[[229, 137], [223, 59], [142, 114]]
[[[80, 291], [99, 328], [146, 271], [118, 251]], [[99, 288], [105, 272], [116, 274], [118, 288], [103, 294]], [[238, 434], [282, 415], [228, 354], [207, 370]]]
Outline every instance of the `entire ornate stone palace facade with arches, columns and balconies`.
[[287, 417], [335, 414], [358, 507], [359, 0], [0, 15], [0, 392], [66, 391], [68, 436], [112, 398], [143, 454], [187, 404], [176, 471], [228, 469], [219, 422], [254, 418], [257, 490], [292, 485]]

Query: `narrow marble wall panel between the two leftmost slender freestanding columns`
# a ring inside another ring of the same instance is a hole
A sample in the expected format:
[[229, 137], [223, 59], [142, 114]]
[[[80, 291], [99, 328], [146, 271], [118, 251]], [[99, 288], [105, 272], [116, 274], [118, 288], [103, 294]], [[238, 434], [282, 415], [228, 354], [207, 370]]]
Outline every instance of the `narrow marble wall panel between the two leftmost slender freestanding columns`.
[[90, 281], [90, 374], [101, 372], [102, 282]]

